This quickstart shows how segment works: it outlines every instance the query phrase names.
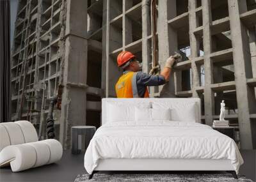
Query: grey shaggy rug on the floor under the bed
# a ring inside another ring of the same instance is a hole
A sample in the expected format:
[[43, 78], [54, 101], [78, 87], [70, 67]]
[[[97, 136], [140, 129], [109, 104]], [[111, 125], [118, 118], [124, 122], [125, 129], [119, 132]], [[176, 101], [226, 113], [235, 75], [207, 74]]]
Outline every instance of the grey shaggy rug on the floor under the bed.
[[243, 181], [253, 182], [250, 179], [244, 178], [244, 176], [238, 176], [239, 179], [234, 179], [231, 174], [99, 174], [93, 175], [92, 179], [88, 179], [88, 174], [78, 175], [75, 182], [85, 181], [210, 181], [210, 182], [221, 182], [221, 181]]

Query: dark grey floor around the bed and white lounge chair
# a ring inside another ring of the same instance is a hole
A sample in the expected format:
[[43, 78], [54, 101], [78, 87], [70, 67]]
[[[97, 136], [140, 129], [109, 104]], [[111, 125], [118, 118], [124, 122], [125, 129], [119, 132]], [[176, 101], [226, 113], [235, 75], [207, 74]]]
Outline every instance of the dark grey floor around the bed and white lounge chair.
[[[244, 164], [239, 174], [256, 181], [256, 150], [241, 151]], [[72, 155], [71, 151], [64, 151], [62, 159], [42, 167], [22, 172], [12, 172], [10, 167], [0, 169], [0, 181], [74, 181], [78, 174], [86, 173], [84, 169], [84, 153]], [[200, 173], [200, 172], [198, 172]]]

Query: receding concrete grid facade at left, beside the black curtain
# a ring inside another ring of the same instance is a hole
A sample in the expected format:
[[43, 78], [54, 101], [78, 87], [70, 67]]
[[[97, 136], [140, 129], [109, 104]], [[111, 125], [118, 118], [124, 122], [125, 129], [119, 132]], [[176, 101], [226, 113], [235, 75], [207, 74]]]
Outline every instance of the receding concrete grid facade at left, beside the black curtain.
[[36, 128], [47, 113], [45, 103], [56, 95], [58, 87], [61, 3], [21, 0], [17, 10], [12, 49], [12, 119], [27, 119]]

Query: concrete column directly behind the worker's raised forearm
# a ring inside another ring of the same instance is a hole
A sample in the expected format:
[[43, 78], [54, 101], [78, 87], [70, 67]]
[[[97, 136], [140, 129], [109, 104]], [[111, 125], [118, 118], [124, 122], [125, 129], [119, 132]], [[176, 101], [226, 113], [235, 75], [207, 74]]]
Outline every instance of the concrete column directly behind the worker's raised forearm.
[[[172, 9], [170, 9], [172, 8]], [[168, 26], [168, 19], [176, 16], [176, 1], [158, 1], [158, 50], [159, 64], [163, 68], [166, 59], [178, 50], [177, 31]], [[171, 14], [172, 13], [172, 14]], [[175, 97], [174, 73], [164, 86], [159, 86], [160, 97]]]

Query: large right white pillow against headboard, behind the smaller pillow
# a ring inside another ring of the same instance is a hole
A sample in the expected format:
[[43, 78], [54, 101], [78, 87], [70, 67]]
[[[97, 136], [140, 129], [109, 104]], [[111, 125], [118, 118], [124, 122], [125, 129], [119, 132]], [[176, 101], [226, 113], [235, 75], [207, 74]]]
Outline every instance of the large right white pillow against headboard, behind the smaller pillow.
[[172, 121], [196, 122], [197, 119], [195, 102], [180, 102], [174, 104], [169, 102], [154, 102], [152, 103], [152, 107], [154, 109], [170, 108]]

